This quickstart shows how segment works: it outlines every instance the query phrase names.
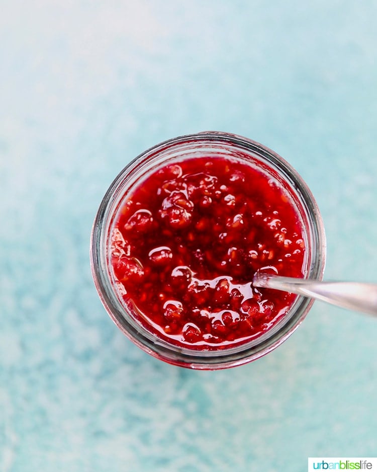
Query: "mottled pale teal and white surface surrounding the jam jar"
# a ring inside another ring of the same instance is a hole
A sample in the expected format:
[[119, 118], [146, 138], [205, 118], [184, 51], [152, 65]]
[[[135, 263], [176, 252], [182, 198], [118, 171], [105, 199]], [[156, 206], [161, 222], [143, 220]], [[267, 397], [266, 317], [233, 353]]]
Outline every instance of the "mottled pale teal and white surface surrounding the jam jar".
[[377, 282], [374, 0], [0, 0], [0, 470], [301, 472], [377, 456], [377, 322], [316, 302], [251, 364], [129, 342], [89, 234], [118, 172], [177, 135], [274, 149], [321, 208], [327, 279]]

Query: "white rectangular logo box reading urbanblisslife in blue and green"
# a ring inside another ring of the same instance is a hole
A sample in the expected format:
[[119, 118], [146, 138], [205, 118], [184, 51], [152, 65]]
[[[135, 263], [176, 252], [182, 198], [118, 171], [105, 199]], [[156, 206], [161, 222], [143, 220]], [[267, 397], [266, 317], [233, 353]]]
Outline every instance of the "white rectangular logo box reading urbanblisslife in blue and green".
[[313, 470], [373, 470], [377, 472], [377, 457], [309, 457], [308, 472]]

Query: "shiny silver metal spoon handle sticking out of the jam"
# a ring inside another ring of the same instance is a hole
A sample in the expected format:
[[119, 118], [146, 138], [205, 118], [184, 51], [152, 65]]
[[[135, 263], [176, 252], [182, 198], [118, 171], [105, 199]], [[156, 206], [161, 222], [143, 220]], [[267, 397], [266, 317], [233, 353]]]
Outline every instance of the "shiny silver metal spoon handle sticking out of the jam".
[[254, 287], [273, 288], [377, 316], [377, 284], [321, 282], [257, 272]]

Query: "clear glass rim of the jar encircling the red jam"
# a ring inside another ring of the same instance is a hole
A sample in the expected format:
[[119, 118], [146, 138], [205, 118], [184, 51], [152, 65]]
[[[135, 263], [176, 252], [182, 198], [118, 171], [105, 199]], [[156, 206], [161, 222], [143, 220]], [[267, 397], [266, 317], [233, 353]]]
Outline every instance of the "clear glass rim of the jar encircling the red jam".
[[146, 150], [116, 177], [106, 192], [95, 221], [90, 243], [90, 263], [99, 296], [119, 329], [141, 349], [165, 362], [196, 369], [219, 369], [250, 362], [275, 349], [301, 324], [313, 300], [298, 296], [284, 319], [249, 342], [219, 350], [195, 350], [178, 347], [156, 337], [135, 320], [122, 303], [114, 287], [109, 262], [109, 233], [117, 209], [125, 194], [145, 177], [167, 162], [184, 160], [193, 155], [216, 153], [236, 159], [247, 159], [276, 175], [290, 191], [299, 212], [309, 248], [305, 261], [305, 278], [321, 280], [326, 257], [323, 221], [318, 205], [300, 175], [274, 151], [248, 138], [230, 133], [207, 131], [180, 136]]

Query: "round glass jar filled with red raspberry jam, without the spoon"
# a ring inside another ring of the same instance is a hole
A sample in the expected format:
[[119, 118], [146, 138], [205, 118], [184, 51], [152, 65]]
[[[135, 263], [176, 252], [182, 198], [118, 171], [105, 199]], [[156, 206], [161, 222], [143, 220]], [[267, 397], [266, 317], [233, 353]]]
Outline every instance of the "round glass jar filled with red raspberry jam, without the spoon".
[[110, 186], [91, 235], [93, 278], [117, 326], [149, 354], [218, 369], [277, 347], [313, 301], [256, 288], [257, 271], [321, 279], [322, 220], [277, 154], [226, 133], [141, 154]]

